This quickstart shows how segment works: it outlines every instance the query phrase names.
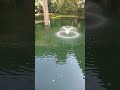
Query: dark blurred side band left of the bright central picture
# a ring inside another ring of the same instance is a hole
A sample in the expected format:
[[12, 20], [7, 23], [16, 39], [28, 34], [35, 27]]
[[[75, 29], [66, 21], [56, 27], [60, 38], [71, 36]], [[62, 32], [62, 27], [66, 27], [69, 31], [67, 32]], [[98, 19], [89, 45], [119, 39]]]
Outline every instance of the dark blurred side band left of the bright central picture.
[[2, 90], [34, 90], [34, 2], [26, 3], [0, 1]]

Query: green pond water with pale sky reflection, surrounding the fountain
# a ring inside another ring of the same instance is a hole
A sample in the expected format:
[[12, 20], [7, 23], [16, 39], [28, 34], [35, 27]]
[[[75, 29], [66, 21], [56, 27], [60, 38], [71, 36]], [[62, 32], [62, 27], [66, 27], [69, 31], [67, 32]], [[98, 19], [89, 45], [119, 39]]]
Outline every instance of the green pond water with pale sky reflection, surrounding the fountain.
[[[62, 26], [74, 26], [79, 37], [56, 36]], [[35, 90], [85, 90], [85, 22], [54, 19], [35, 25]]]

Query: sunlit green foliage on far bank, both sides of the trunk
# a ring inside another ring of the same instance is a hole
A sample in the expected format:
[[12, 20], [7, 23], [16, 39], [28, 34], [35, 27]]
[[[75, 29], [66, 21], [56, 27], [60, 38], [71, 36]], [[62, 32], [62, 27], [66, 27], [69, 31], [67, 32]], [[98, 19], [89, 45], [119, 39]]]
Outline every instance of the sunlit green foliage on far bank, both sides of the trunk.
[[[48, 8], [50, 13], [63, 15], [84, 16], [84, 0], [48, 0]], [[42, 8], [42, 5], [35, 0], [36, 11]]]

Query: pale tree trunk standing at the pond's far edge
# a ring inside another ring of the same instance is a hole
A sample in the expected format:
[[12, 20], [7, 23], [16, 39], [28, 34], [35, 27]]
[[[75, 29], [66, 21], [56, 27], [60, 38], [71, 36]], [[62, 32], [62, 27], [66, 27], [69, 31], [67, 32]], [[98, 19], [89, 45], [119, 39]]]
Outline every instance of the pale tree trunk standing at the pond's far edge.
[[44, 22], [45, 25], [49, 25], [49, 11], [48, 11], [48, 0], [43, 0], [43, 11], [44, 11]]

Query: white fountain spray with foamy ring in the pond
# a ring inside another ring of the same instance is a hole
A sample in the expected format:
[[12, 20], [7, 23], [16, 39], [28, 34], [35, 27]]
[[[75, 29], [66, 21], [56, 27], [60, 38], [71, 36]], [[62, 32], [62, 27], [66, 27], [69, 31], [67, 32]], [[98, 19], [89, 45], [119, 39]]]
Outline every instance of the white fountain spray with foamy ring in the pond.
[[74, 39], [80, 36], [77, 32], [77, 28], [73, 26], [62, 26], [56, 35], [60, 38], [66, 39]]

